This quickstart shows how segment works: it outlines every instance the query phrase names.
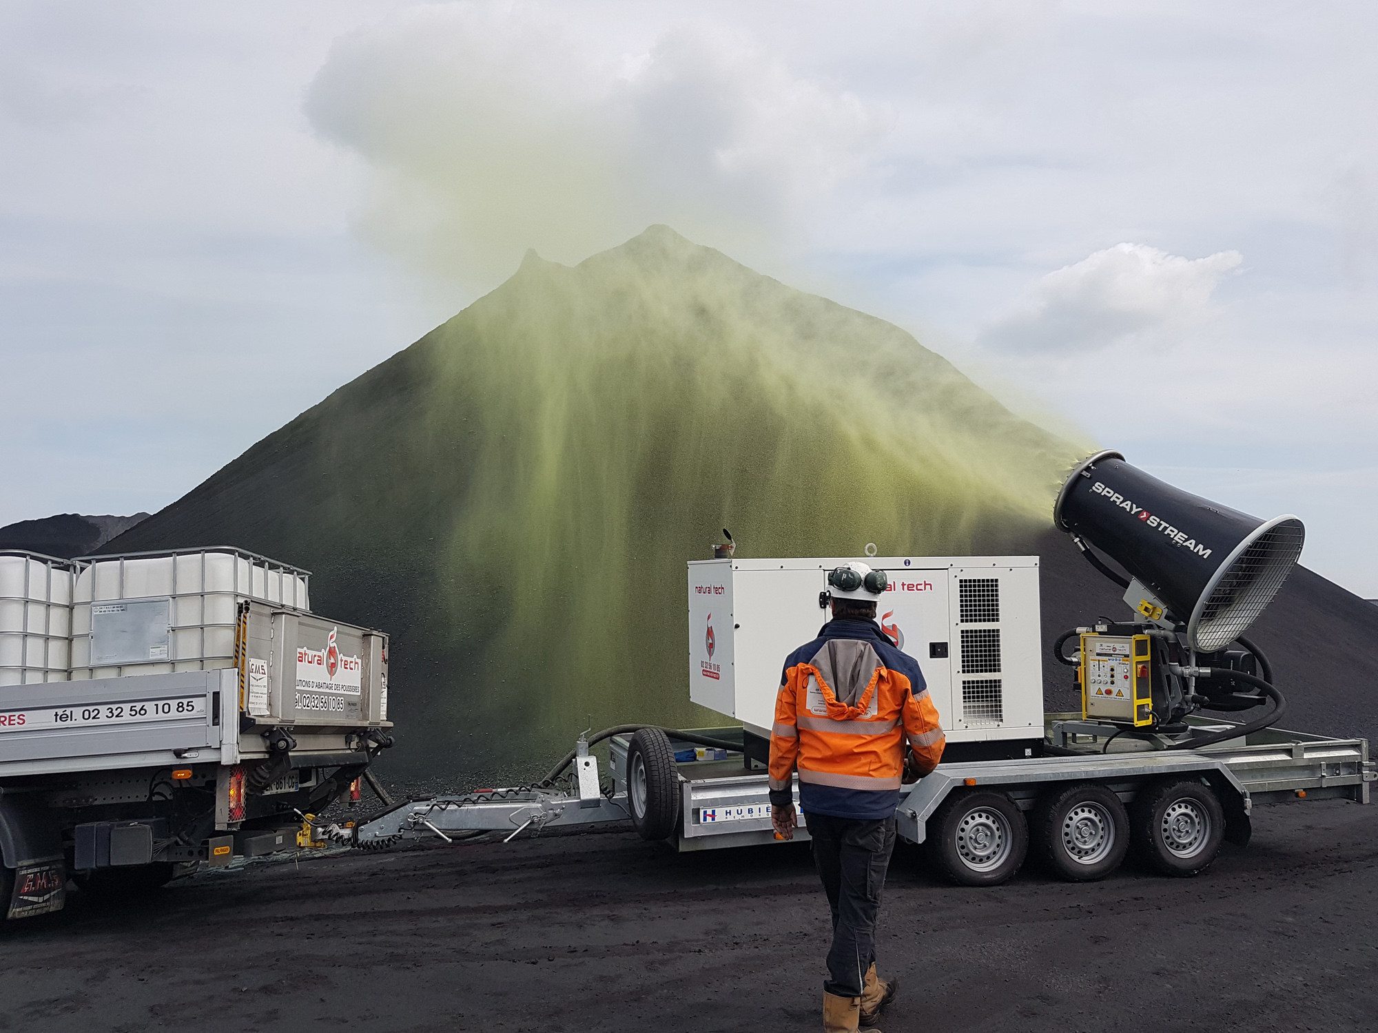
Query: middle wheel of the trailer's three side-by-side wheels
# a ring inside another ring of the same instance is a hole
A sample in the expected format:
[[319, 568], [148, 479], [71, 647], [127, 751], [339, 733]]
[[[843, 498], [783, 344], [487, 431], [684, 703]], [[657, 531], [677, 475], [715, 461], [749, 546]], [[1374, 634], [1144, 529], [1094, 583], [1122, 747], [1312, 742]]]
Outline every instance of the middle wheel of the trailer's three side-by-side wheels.
[[1104, 879], [1129, 850], [1124, 804], [1096, 782], [1051, 789], [1035, 811], [1034, 828], [1039, 855], [1073, 883]]

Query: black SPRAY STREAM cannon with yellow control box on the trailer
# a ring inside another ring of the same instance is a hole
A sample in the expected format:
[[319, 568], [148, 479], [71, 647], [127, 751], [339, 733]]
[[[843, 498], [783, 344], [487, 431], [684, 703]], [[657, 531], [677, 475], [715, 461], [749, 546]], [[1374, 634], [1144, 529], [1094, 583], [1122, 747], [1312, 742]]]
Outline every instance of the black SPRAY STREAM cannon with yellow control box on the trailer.
[[[1236, 738], [1276, 722], [1286, 702], [1262, 651], [1244, 634], [1297, 565], [1305, 528], [1291, 515], [1261, 521], [1178, 490], [1119, 452], [1078, 464], [1053, 511], [1058, 530], [1124, 589], [1133, 618], [1064, 634], [1056, 658], [1078, 668], [1082, 713], [1169, 749]], [[1127, 573], [1116, 573], [1104, 552]], [[1078, 638], [1076, 657], [1062, 651]], [[1199, 709], [1264, 716], [1202, 734]]]

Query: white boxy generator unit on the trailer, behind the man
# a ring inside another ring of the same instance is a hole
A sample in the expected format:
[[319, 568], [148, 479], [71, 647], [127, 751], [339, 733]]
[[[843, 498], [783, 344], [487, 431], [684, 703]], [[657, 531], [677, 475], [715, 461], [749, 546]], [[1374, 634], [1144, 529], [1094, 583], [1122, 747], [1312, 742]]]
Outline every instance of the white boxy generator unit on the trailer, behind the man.
[[[784, 658], [831, 620], [828, 572], [847, 559], [690, 561], [689, 698], [769, 738]], [[878, 623], [918, 661], [949, 748], [1025, 756], [1018, 741], [1043, 738], [1038, 556], [861, 562], [890, 580]]]

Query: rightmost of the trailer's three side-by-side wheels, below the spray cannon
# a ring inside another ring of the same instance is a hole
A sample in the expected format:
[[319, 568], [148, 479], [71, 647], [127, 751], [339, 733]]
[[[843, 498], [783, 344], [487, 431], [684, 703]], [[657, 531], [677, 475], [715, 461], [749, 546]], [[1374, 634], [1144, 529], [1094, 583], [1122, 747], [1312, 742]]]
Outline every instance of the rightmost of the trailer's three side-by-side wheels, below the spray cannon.
[[1178, 877], [1204, 872], [1225, 837], [1225, 810], [1197, 781], [1164, 781], [1140, 791], [1133, 811], [1134, 843], [1151, 868]]

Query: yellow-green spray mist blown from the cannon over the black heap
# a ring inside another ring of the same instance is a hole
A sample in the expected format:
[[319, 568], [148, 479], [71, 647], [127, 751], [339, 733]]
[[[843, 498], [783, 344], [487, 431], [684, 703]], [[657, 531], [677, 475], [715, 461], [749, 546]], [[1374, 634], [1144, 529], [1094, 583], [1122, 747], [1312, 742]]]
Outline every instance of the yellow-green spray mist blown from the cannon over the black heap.
[[1075, 459], [896, 326], [663, 226], [529, 255], [433, 342], [431, 434], [473, 449], [452, 627], [482, 610], [485, 680], [565, 737], [722, 722], [688, 702], [683, 613], [721, 526], [743, 555], [960, 554], [1045, 522]]

